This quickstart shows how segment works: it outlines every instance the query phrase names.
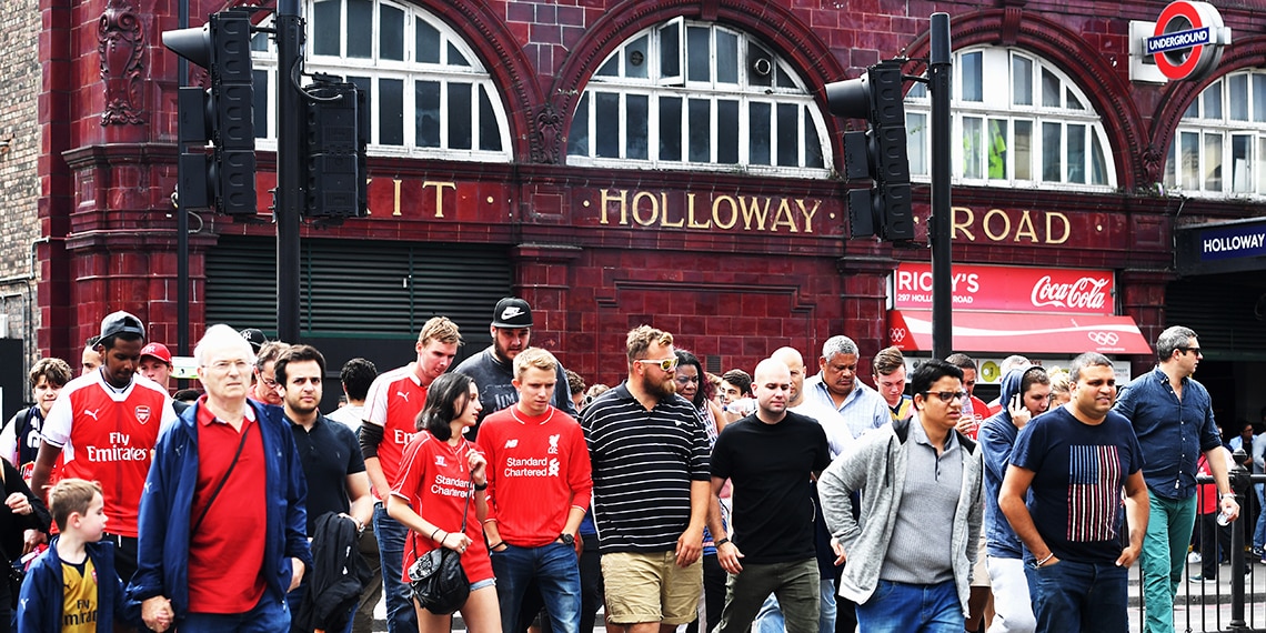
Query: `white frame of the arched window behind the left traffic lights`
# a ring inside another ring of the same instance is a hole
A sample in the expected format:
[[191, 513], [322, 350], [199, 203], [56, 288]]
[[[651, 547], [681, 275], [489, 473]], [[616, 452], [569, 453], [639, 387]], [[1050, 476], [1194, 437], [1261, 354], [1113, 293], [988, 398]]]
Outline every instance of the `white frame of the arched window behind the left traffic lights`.
[[[373, 24], [372, 32], [365, 34], [365, 37], [372, 38], [372, 56], [370, 58], [348, 57], [347, 53], [347, 38], [349, 37], [349, 28], [347, 23], [347, 1], [335, 0], [341, 4], [341, 35], [339, 35], [339, 54], [315, 54], [314, 51], [314, 25], [313, 15], [315, 14], [314, 6], [318, 0], [304, 0], [304, 11], [309, 18], [306, 22], [308, 37], [306, 37], [306, 62], [304, 65], [304, 71], [306, 75], [311, 73], [327, 73], [337, 77], [368, 77], [372, 85], [370, 92], [370, 143], [367, 152], [370, 156], [385, 156], [385, 157], [401, 157], [401, 158], [439, 158], [439, 160], [457, 160], [457, 161], [477, 161], [477, 162], [510, 162], [513, 157], [513, 147], [510, 141], [510, 123], [509, 116], [505, 113], [504, 100], [501, 97], [500, 90], [492, 81], [491, 75], [485, 70], [481, 60], [475, 53], [475, 51], [462, 39], [462, 37], [448, 27], [443, 20], [430, 14], [429, 11], [422, 9], [420, 6], [405, 5], [399, 3], [392, 3], [389, 0], [375, 0], [373, 1]], [[390, 6], [392, 9], [404, 13], [404, 61], [398, 60], [380, 60], [380, 42], [379, 28], [381, 24], [380, 15], [382, 6]], [[448, 46], [454, 47], [470, 63], [470, 66], [454, 66], [449, 63], [419, 63], [417, 58], [417, 39], [415, 39], [415, 24], [417, 19], [422, 19], [437, 29], [441, 34], [441, 58], [446, 60]], [[271, 18], [266, 20], [265, 25], [271, 24]], [[252, 53], [252, 62], [256, 71], [266, 71], [268, 73], [267, 81], [267, 103], [268, 111], [260, 116], [256, 115], [256, 125], [265, 125], [263, 137], [256, 139], [256, 147], [265, 151], [276, 151], [277, 148], [277, 125], [276, 125], [276, 104], [277, 104], [277, 54], [273, 42], [267, 41], [265, 51], [260, 51], [260, 43], [265, 42], [265, 34], [256, 35], [256, 51]], [[381, 80], [400, 80], [404, 82], [403, 95], [401, 95], [401, 114], [403, 114], [403, 144], [382, 144], [380, 142], [380, 110], [377, 106], [379, 95], [379, 82]], [[305, 76], [303, 82], [306, 85], [311, 80]], [[441, 143], [439, 147], [422, 147], [417, 144], [417, 92], [415, 85], [418, 82], [439, 82], [441, 85], [441, 100], [439, 100], [439, 118], [441, 122], [448, 120], [447, 108], [448, 87], [454, 84], [465, 84], [471, 86], [471, 148], [449, 148], [448, 147], [448, 125], [441, 124], [439, 134]], [[480, 118], [481, 118], [481, 104], [480, 92], [484, 91], [487, 95], [489, 104], [491, 105], [492, 115], [496, 119], [496, 134], [500, 141], [500, 149], [489, 151], [480, 149]]]

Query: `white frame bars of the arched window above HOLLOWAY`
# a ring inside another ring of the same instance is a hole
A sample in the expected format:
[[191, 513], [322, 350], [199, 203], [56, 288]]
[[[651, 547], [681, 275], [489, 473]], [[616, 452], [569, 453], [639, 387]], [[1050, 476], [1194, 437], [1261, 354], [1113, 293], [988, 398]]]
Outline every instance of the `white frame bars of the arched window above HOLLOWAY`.
[[[686, 54], [686, 42], [687, 33], [690, 28], [708, 28], [709, 29], [709, 81], [698, 81], [689, 78], [689, 58]], [[660, 76], [660, 60], [661, 60], [661, 33], [665, 29], [676, 28], [679, 33], [679, 71], [680, 75], [671, 77]], [[738, 84], [722, 84], [717, 81], [717, 34], [718, 30], [725, 32], [727, 34], [733, 34], [738, 38]], [[624, 76], [624, 54], [625, 47], [642, 37], [648, 37], [649, 46], [647, 47], [647, 62], [648, 72], [647, 77], [625, 77]], [[748, 66], [752, 63], [749, 54], [757, 49], [768, 53], [771, 61], [775, 65], [775, 70], [771, 73], [770, 86], [757, 86], [748, 84]], [[611, 54], [603, 60], [598, 65], [598, 68], [603, 68], [606, 63], [613, 62], [619, 70], [618, 76], [599, 76], [595, 71], [594, 76], [590, 78], [589, 85], [581, 92], [581, 97], [576, 100], [577, 109], [584, 106], [587, 108], [586, 115], [584, 118], [576, 116], [573, 122], [584, 120], [587, 124], [587, 153], [579, 154], [571, 153], [571, 147], [567, 149], [567, 165], [584, 166], [584, 167], [615, 167], [615, 168], [641, 168], [641, 170], [690, 170], [690, 171], [718, 171], [718, 172], [733, 172], [741, 171], [744, 173], [757, 173], [768, 176], [786, 176], [786, 177], [829, 177], [833, 173], [833, 160], [830, 148], [830, 137], [827, 132], [825, 119], [814, 101], [813, 96], [805, 89], [804, 81], [799, 75], [791, 68], [791, 66], [772, 51], [770, 47], [757, 42], [751, 35], [722, 27], [713, 23], [704, 22], [691, 22], [685, 18], [674, 18], [668, 22], [663, 22], [649, 27], [647, 29], [639, 30], [630, 37], [628, 37], [624, 43], [617, 48]], [[779, 86], [777, 77], [779, 73], [786, 77], [793, 86]], [[614, 94], [619, 96], [619, 113], [620, 120], [618, 123], [618, 135], [619, 135], [619, 156], [618, 157], [599, 157], [598, 144], [595, 139], [598, 138], [598, 116], [595, 94]], [[646, 96], [647, 103], [647, 158], [629, 158], [628, 157], [628, 118], [627, 118], [627, 104], [628, 96], [638, 95]], [[660, 158], [660, 100], [663, 97], [676, 97], [681, 100], [681, 158], [668, 160]], [[709, 101], [709, 160], [691, 161], [690, 160], [690, 115], [689, 108], [691, 100], [705, 99]], [[738, 162], [737, 163], [719, 163], [717, 162], [719, 144], [718, 135], [720, 134], [718, 128], [718, 109], [722, 101], [736, 101], [738, 104]], [[798, 139], [798, 158], [795, 166], [779, 166], [779, 148], [777, 148], [777, 133], [771, 128], [770, 130], [770, 162], [774, 165], [756, 165], [751, 163], [751, 105], [756, 103], [771, 104], [771, 118], [776, 122], [777, 119], [777, 105], [779, 104], [795, 104], [798, 106], [796, 115], [796, 132], [795, 138]], [[576, 123], [573, 123], [575, 125]], [[822, 167], [808, 166], [810, 158], [810, 149], [806, 147], [806, 125], [813, 125], [814, 132], [818, 135], [818, 146], [820, 146], [822, 153]], [[571, 137], [571, 130], [568, 130], [568, 138]]]

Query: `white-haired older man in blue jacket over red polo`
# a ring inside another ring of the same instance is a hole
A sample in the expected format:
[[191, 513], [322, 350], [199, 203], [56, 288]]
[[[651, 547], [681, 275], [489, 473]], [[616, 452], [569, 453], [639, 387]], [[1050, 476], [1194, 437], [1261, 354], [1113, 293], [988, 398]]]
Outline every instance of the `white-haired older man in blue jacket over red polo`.
[[158, 632], [286, 630], [286, 592], [311, 565], [294, 437], [280, 409], [247, 400], [237, 332], [213, 325], [194, 357], [206, 395], [158, 437], [130, 598]]

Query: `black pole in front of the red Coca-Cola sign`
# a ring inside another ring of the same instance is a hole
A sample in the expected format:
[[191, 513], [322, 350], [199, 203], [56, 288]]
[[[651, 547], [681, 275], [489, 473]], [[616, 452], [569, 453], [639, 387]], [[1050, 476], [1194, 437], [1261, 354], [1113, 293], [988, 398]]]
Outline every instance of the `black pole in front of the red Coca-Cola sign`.
[[953, 62], [950, 57], [950, 14], [932, 14], [932, 54], [928, 82], [932, 91], [932, 356], [953, 353], [952, 254], [950, 248], [950, 87]]

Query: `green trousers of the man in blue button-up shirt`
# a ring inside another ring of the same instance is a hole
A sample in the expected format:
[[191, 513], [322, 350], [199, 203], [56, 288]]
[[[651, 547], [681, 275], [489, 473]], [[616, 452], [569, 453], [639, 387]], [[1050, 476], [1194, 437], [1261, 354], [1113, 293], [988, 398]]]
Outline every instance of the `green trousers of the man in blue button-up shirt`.
[[1148, 518], [1143, 536], [1143, 633], [1174, 633], [1174, 596], [1186, 571], [1186, 551], [1195, 527], [1195, 495], [1167, 499], [1147, 489]]

